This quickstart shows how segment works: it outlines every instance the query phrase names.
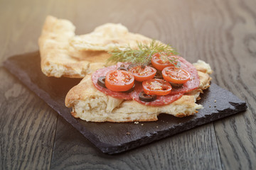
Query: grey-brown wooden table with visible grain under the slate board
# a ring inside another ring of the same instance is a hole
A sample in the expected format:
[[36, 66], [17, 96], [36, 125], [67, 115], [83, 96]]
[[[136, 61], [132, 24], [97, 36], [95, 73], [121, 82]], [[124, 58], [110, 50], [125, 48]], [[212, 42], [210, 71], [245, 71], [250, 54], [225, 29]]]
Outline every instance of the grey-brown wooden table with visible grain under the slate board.
[[[247, 111], [117, 155], [102, 154], [0, 67], [0, 169], [256, 169], [256, 1], [0, 1], [0, 62], [38, 50], [47, 15], [77, 34], [122, 23], [208, 62]], [[2, 65], [2, 64], [1, 64]]]

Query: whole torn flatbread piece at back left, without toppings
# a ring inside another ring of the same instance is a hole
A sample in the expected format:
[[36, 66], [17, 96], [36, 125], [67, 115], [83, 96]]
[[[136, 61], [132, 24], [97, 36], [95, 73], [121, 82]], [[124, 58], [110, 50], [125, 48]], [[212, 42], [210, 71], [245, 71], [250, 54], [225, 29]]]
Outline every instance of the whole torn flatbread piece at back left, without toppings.
[[129, 33], [121, 24], [106, 23], [92, 33], [75, 35], [75, 26], [68, 20], [47, 16], [38, 45], [41, 69], [48, 77], [83, 78], [104, 67], [108, 53], [114, 47], [137, 42], [148, 43], [150, 38]]

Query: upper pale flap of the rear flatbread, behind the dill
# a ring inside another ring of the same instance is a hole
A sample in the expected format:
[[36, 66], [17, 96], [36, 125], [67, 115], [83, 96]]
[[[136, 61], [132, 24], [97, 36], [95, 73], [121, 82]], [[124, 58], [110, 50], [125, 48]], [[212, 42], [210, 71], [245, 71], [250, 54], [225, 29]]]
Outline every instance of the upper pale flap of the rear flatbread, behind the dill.
[[129, 33], [129, 30], [120, 23], [106, 23], [95, 28], [92, 33], [75, 36], [70, 40], [70, 45], [77, 50], [112, 51], [116, 47], [122, 49], [127, 45], [137, 48], [137, 42], [149, 44], [151, 38]]

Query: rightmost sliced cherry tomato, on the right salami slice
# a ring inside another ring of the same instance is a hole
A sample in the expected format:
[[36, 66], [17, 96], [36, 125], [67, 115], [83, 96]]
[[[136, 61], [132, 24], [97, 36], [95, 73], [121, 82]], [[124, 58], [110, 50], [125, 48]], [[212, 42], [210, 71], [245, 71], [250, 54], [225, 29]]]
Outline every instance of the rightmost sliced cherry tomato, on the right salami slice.
[[165, 67], [162, 74], [166, 81], [174, 84], [184, 84], [191, 78], [191, 75], [185, 69], [177, 67]]

